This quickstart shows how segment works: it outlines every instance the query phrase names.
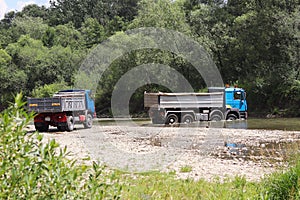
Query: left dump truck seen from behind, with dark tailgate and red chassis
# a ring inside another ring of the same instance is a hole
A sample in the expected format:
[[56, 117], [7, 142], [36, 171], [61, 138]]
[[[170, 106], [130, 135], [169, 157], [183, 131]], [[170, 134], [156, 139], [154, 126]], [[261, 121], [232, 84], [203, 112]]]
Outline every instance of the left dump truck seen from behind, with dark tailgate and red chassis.
[[37, 131], [48, 131], [49, 126], [59, 131], [72, 131], [76, 123], [91, 128], [96, 116], [90, 90], [62, 90], [48, 98], [28, 98], [28, 110], [37, 113], [34, 126]]

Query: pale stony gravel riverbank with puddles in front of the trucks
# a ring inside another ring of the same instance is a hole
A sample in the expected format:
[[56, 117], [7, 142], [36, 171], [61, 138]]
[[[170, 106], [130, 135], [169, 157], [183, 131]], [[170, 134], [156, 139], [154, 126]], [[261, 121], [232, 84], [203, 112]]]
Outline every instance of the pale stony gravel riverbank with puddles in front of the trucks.
[[55, 139], [61, 147], [67, 146], [72, 158], [91, 158], [83, 162], [99, 161], [130, 172], [176, 171], [178, 178], [195, 180], [238, 175], [257, 181], [286, 167], [300, 141], [299, 131], [134, 127], [126, 123], [94, 123], [91, 129], [78, 125], [73, 132], [58, 132], [53, 127], [42, 134], [45, 141]]

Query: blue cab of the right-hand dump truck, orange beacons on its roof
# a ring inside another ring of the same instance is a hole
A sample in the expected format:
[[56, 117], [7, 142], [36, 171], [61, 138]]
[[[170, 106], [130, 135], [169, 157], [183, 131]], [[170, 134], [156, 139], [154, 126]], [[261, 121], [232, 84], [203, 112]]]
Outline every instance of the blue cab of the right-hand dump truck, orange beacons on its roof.
[[225, 88], [225, 102], [227, 109], [238, 109], [240, 118], [247, 119], [248, 106], [246, 101], [246, 91], [242, 88]]

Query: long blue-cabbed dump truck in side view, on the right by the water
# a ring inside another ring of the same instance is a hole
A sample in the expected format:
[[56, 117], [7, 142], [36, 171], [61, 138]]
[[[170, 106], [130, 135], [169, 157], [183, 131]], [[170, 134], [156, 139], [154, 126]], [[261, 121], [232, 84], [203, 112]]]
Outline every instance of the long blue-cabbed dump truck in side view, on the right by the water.
[[144, 93], [153, 124], [247, 119], [242, 88], [209, 88], [208, 93]]

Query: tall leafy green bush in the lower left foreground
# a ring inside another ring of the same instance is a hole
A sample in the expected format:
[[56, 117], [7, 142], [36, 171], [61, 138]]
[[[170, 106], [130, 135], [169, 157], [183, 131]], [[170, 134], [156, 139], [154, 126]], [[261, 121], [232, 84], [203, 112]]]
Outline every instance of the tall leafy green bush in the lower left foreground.
[[113, 173], [79, 165], [55, 140], [42, 143], [42, 135], [26, 132], [33, 114], [21, 99], [0, 115], [0, 198], [118, 199], [122, 187]]

